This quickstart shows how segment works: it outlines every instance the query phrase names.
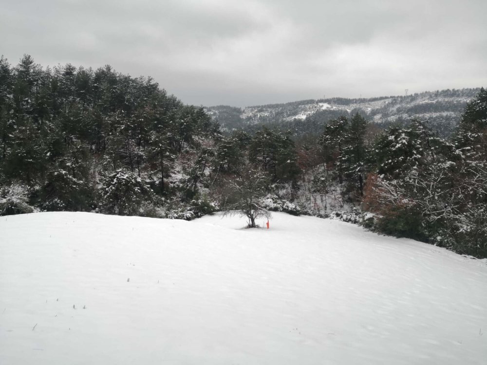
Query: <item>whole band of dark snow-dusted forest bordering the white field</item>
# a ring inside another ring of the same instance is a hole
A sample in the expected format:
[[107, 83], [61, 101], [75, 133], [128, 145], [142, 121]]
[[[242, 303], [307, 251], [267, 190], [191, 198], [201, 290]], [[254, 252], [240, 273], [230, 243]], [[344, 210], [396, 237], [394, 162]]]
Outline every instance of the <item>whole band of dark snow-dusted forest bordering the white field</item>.
[[150, 77], [2, 56], [0, 215], [282, 210], [487, 257], [485, 89], [450, 137], [426, 120], [384, 130], [360, 113], [317, 128], [224, 134]]

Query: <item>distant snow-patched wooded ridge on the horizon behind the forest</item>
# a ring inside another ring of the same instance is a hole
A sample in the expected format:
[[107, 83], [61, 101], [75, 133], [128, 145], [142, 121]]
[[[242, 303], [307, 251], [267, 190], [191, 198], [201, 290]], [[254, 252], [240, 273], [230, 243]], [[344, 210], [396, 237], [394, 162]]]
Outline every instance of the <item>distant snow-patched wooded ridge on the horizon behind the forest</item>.
[[479, 91], [480, 88], [448, 89], [369, 99], [301, 100], [243, 109], [220, 105], [206, 108], [206, 111], [227, 132], [239, 128], [254, 130], [268, 125], [291, 129], [296, 135], [315, 134], [320, 133], [330, 119], [358, 112], [382, 128], [407, 124], [414, 118], [429, 120], [431, 128], [447, 137], [457, 126], [467, 102]]

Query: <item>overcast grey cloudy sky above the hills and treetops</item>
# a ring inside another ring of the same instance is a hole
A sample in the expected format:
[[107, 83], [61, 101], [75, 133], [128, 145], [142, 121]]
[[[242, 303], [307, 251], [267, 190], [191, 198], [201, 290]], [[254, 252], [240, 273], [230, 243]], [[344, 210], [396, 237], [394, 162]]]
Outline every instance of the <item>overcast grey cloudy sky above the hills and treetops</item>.
[[487, 86], [486, 0], [3, 0], [0, 54], [247, 106]]

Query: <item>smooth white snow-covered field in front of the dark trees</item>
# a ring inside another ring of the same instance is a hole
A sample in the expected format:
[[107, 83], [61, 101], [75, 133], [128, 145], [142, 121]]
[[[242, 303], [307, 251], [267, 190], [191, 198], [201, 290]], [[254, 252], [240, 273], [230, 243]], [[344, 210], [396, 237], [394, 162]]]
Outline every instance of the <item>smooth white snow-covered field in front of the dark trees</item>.
[[270, 224], [1, 217], [0, 364], [486, 364], [485, 260]]

